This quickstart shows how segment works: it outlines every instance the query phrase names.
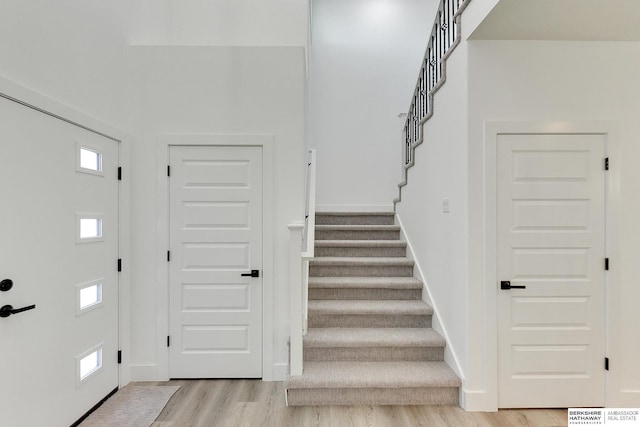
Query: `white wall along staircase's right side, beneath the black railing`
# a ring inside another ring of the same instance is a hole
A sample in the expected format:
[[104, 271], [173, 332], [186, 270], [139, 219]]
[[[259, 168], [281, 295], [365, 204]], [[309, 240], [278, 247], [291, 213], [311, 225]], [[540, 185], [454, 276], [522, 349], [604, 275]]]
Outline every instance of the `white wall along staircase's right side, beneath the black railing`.
[[[424, 275], [435, 309], [434, 329], [447, 339], [447, 362], [463, 376], [467, 359], [467, 111], [466, 44], [447, 62], [447, 80], [434, 98], [424, 142], [402, 188], [397, 215]], [[455, 125], [453, 125], [455, 124]], [[450, 201], [449, 213], [443, 200]], [[426, 299], [427, 293], [423, 292]], [[457, 362], [456, 362], [457, 359]], [[461, 366], [456, 366], [459, 363]]]

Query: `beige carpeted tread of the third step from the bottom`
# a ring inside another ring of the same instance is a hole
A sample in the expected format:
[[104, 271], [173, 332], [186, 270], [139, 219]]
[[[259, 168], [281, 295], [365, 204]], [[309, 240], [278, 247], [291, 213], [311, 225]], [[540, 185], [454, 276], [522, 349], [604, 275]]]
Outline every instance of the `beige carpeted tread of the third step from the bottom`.
[[421, 300], [310, 300], [309, 314], [432, 315], [433, 308]]

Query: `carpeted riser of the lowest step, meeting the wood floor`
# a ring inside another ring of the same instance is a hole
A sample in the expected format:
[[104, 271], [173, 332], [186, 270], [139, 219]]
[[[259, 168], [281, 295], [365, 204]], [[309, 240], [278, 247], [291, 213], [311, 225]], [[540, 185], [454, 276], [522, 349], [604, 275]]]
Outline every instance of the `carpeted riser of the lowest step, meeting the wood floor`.
[[457, 387], [320, 388], [287, 390], [289, 406], [457, 405]]

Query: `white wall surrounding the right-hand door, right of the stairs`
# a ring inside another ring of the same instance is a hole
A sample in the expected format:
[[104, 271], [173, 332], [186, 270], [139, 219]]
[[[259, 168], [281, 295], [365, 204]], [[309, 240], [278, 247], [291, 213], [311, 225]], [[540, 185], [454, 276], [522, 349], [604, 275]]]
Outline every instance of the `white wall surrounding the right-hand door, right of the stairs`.
[[[609, 195], [617, 216], [608, 230], [619, 236], [608, 248], [608, 405], [640, 405], [640, 43], [624, 42], [469, 42], [469, 285], [468, 300], [483, 301], [484, 277], [484, 123], [495, 121], [612, 121], [617, 128], [609, 148]], [[437, 107], [436, 107], [437, 108]], [[619, 194], [619, 196], [618, 196]], [[611, 211], [610, 211], [611, 213]], [[482, 391], [490, 379], [484, 366], [495, 364], [494, 331], [485, 326], [482, 304], [469, 306], [469, 376], [466, 387]], [[489, 357], [488, 357], [489, 355]], [[615, 367], [614, 367], [615, 366]]]

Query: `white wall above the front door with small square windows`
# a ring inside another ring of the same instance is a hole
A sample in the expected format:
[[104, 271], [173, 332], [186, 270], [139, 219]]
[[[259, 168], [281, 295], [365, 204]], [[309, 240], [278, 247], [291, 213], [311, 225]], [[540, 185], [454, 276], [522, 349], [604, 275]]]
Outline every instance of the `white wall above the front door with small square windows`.
[[0, 75], [126, 127], [124, 0], [0, 2]]

